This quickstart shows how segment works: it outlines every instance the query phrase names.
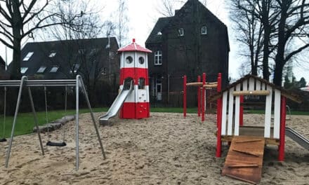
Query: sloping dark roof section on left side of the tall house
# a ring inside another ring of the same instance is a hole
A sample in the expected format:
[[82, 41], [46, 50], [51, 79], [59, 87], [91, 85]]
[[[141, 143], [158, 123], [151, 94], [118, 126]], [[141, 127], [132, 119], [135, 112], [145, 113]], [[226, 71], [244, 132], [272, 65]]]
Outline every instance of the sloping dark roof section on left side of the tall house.
[[146, 43], [161, 43], [162, 35], [159, 35], [158, 32], [162, 32], [162, 29], [164, 29], [164, 27], [172, 18], [173, 17], [159, 18], [155, 24], [155, 27], [152, 29], [150, 35], [148, 36]]

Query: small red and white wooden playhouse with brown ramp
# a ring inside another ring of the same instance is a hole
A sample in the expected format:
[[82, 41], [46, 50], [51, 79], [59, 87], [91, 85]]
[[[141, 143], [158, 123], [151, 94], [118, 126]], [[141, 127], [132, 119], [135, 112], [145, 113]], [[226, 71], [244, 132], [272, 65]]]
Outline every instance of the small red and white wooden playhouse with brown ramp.
[[[244, 96], [255, 96], [259, 102], [265, 101], [263, 126], [242, 125]], [[209, 101], [218, 100], [216, 157], [221, 157], [222, 142], [230, 144], [223, 175], [251, 183], [260, 181], [266, 144], [278, 146], [278, 160], [284, 160], [284, 139], [289, 132], [285, 126], [287, 98], [301, 102], [298, 95], [252, 75], [240, 78], [209, 98]], [[301, 143], [296, 142], [304, 147], [308, 143], [296, 131], [291, 139], [301, 140]]]

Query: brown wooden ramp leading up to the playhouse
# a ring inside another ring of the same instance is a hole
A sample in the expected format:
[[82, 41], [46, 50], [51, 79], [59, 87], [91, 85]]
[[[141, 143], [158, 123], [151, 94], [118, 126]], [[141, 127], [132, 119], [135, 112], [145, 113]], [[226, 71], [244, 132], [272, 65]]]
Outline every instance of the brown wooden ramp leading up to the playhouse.
[[222, 175], [257, 184], [261, 181], [264, 137], [235, 136], [225, 159]]

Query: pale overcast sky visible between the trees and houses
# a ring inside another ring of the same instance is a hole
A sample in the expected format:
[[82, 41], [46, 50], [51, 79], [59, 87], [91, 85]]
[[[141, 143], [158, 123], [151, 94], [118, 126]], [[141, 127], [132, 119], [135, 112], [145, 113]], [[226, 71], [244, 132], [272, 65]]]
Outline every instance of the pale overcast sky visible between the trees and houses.
[[[117, 8], [117, 1], [97, 1], [98, 6], [104, 6], [101, 16], [103, 20], [110, 18], [112, 11]], [[157, 18], [160, 17], [156, 8], [158, 7], [160, 0], [127, 0], [128, 10], [127, 15], [129, 17], [129, 34], [131, 39], [135, 38], [136, 42], [141, 46], [145, 46], [147, 36], [150, 34], [152, 27], [154, 27]], [[180, 5], [181, 6], [181, 5]], [[180, 6], [178, 8], [180, 8]], [[224, 0], [208, 0], [207, 8], [216, 15], [225, 25], [228, 26], [229, 38], [230, 38], [230, 64], [229, 74], [232, 78], [239, 78], [239, 55], [237, 53], [237, 43], [232, 34], [232, 27], [228, 18], [228, 8], [225, 7]], [[114, 15], [112, 15], [114, 16]], [[28, 39], [28, 41], [33, 41]], [[25, 42], [25, 41], [24, 41]], [[0, 55], [5, 56], [4, 46], [0, 43]], [[11, 61], [11, 53], [8, 53], [8, 61]], [[305, 80], [309, 82], [309, 73], [306, 69], [309, 69], [309, 64], [304, 64], [302, 67], [294, 67], [294, 75], [296, 80], [301, 77], [305, 77]]]

